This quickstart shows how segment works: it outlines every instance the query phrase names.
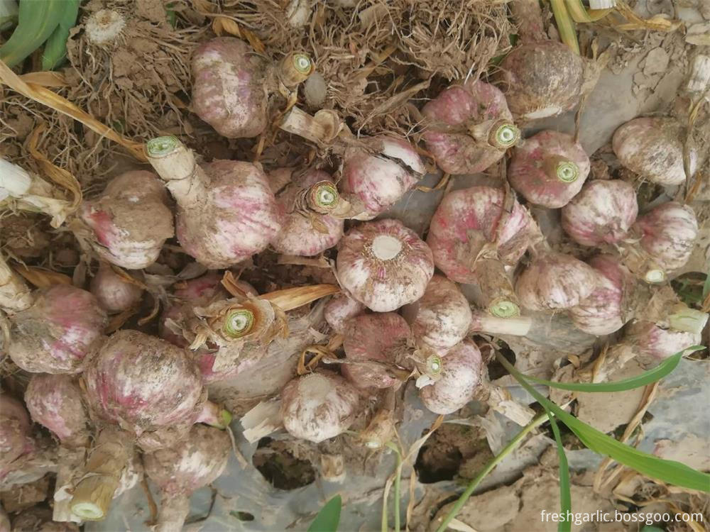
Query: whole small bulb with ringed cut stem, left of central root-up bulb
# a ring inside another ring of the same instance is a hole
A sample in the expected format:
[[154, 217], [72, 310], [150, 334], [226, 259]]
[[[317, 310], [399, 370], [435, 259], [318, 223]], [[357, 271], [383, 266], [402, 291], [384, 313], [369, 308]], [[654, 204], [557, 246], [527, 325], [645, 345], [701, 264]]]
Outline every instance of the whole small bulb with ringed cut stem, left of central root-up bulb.
[[322, 170], [308, 170], [279, 194], [281, 230], [271, 247], [287, 255], [318, 255], [338, 243], [344, 221], [329, 212], [337, 209], [339, 194], [331, 177]]

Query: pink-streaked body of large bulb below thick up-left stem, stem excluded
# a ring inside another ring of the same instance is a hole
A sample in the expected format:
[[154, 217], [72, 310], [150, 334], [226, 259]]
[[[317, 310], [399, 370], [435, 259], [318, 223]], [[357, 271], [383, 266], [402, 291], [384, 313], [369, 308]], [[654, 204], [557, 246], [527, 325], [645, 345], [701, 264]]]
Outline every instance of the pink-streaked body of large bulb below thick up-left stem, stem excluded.
[[266, 249], [280, 231], [276, 200], [261, 166], [215, 160], [202, 169], [210, 179], [197, 204], [180, 204], [175, 232], [180, 245], [210, 269], [226, 268]]

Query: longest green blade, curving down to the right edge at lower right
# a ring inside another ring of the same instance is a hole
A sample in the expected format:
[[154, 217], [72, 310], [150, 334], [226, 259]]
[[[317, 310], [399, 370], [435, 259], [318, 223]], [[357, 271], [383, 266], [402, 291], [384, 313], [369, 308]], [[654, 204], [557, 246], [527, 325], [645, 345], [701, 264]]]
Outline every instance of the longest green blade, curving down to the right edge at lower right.
[[550, 409], [550, 411], [557, 416], [557, 419], [567, 425], [569, 430], [574, 432], [577, 438], [581, 440], [581, 443], [584, 443], [590, 450], [600, 455], [613, 458], [613, 460], [652, 479], [662, 480], [667, 484], [674, 484], [679, 487], [697, 489], [701, 492], [710, 492], [710, 475], [696, 471], [681, 462], [664, 460], [654, 455], [643, 453], [638, 449], [606, 436], [606, 434], [579, 421], [579, 419], [572, 416], [572, 414], [568, 414], [555, 403], [543, 397], [542, 394], [528, 384], [525, 380], [525, 375], [518, 372], [500, 353], [496, 353], [496, 358], [532, 397], [535, 397], [546, 409]]

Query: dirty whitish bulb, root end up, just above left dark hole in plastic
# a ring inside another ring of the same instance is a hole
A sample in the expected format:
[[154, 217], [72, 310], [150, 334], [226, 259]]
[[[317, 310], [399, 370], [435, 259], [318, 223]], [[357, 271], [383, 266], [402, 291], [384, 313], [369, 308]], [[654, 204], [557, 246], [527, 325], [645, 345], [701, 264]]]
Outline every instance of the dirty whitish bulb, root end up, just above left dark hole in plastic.
[[291, 436], [320, 443], [349, 428], [359, 402], [357, 389], [337, 373], [297, 377], [281, 392], [283, 426]]

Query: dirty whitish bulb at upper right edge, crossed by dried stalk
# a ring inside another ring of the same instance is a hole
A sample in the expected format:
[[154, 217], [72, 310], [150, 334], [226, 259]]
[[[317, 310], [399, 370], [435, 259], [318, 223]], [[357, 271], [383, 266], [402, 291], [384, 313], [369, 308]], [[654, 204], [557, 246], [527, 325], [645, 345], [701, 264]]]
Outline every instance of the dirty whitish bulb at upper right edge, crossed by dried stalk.
[[[619, 162], [652, 183], [669, 186], [685, 181], [685, 128], [673, 118], [634, 118], [614, 133], [612, 147]], [[689, 140], [689, 171], [695, 173], [699, 153]]]

